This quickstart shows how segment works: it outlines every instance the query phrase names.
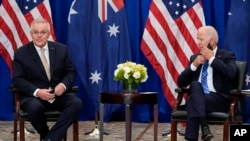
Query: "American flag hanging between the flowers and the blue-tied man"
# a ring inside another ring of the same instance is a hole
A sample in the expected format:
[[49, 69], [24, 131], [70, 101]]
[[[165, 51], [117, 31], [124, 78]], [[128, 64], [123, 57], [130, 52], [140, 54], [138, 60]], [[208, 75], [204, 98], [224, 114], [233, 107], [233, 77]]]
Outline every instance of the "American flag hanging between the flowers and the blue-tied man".
[[200, 0], [152, 0], [141, 50], [159, 75], [173, 107], [174, 89], [189, 57], [198, 52], [196, 32], [205, 24]]

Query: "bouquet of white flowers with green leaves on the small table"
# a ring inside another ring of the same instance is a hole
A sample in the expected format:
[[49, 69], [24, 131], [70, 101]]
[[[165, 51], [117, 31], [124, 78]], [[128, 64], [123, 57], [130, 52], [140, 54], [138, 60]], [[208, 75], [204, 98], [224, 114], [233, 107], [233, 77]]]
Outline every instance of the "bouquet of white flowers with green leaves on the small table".
[[126, 84], [139, 84], [148, 79], [147, 68], [144, 65], [127, 61], [117, 65], [114, 71], [114, 80]]

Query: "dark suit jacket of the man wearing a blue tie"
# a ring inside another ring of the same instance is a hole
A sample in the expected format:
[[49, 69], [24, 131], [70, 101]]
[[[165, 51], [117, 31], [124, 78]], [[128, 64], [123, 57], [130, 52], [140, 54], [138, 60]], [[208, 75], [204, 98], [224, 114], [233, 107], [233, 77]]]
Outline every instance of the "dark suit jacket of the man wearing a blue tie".
[[[192, 71], [190, 68], [191, 63], [197, 56], [198, 54], [191, 56], [188, 67], [180, 74], [178, 78], [179, 87], [186, 87], [192, 81], [198, 81], [202, 65], [198, 66], [196, 71]], [[233, 89], [233, 80], [237, 72], [235, 54], [218, 48], [211, 67], [213, 68], [213, 85], [215, 90], [217, 93], [230, 98], [228, 93], [230, 89]]]

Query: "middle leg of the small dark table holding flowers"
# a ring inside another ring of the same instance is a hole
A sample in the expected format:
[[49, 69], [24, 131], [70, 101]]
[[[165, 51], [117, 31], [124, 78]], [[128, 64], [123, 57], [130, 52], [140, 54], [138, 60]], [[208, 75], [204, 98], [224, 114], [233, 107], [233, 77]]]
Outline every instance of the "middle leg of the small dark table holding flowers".
[[131, 110], [130, 104], [126, 104], [126, 113], [125, 114], [126, 114], [126, 141], [131, 141], [132, 110]]

